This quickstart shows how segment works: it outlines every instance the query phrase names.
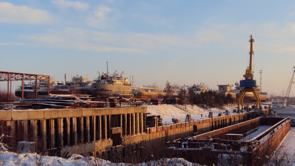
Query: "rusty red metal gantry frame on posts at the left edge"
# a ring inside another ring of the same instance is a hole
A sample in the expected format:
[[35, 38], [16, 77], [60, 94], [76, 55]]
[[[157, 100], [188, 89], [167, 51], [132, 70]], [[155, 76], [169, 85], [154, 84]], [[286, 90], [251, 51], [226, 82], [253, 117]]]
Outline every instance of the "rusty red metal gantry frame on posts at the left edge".
[[[24, 100], [24, 80], [35, 80], [35, 91], [36, 99], [38, 97], [38, 80], [47, 80], [48, 81], [48, 95], [50, 94], [50, 76], [42, 74], [29, 74], [29, 73], [16, 73], [9, 71], [0, 71], [0, 81], [7, 81], [7, 101], [11, 102], [11, 89], [12, 81], [22, 81], [22, 100]], [[10, 81], [10, 95], [9, 95], [9, 81]]]

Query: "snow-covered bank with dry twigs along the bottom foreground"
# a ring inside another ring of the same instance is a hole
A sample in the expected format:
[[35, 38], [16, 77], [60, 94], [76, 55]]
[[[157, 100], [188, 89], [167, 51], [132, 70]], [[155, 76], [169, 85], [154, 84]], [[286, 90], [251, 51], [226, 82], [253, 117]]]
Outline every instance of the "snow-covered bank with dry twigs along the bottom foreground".
[[[184, 160], [183, 158], [171, 158], [148, 163], [135, 164], [140, 166], [161, 165], [177, 166], [201, 166]], [[61, 157], [40, 156], [32, 153], [16, 154], [0, 150], [0, 165], [3, 166], [131, 166], [132, 164], [112, 163], [96, 157], [83, 157], [81, 155], [72, 155], [68, 159]]]

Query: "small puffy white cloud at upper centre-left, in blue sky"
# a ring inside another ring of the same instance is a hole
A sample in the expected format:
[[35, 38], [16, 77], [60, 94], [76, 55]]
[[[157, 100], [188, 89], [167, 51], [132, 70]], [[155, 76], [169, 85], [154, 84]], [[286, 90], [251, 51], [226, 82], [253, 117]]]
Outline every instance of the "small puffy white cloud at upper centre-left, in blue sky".
[[97, 10], [93, 12], [93, 16], [87, 18], [87, 24], [89, 27], [106, 29], [111, 24], [112, 19], [107, 15], [113, 10], [107, 6], [100, 5]]

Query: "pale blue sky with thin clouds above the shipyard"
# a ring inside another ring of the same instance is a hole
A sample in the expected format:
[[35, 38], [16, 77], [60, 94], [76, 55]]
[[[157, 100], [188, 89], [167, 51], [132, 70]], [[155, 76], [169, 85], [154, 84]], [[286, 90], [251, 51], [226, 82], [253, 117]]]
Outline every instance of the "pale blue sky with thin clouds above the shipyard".
[[93, 80], [108, 61], [109, 72], [134, 75], [136, 86], [168, 80], [217, 89], [243, 78], [251, 34], [257, 84], [263, 70], [262, 91], [286, 92], [294, 1], [0, 0], [0, 70]]

